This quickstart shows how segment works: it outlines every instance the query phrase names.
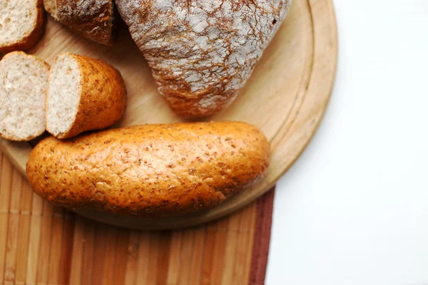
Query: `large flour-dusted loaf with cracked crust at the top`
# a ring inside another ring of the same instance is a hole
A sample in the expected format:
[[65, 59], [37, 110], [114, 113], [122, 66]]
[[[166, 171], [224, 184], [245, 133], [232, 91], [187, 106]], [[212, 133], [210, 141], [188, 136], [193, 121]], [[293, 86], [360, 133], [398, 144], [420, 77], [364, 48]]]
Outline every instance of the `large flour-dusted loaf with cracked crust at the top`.
[[285, 18], [290, 0], [116, 0], [159, 92], [180, 116], [228, 106]]

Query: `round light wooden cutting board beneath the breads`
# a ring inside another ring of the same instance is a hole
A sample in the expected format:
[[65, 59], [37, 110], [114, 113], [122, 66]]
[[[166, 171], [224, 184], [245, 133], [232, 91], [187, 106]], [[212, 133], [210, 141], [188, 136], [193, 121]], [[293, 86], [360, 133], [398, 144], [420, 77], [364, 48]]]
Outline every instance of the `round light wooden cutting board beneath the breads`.
[[[108, 48], [73, 35], [49, 18], [46, 35], [30, 53], [52, 63], [63, 51], [101, 58], [121, 71], [128, 90], [128, 108], [118, 126], [180, 121], [158, 94], [150, 68], [124, 24], [118, 43]], [[272, 147], [272, 162], [264, 180], [218, 207], [183, 217], [138, 219], [89, 210], [76, 212], [120, 227], [175, 229], [209, 222], [240, 209], [270, 190], [312, 138], [330, 98], [336, 63], [337, 29], [331, 0], [294, 0], [287, 19], [238, 99], [206, 119], [241, 120], [263, 130]], [[1, 140], [0, 146], [24, 174], [31, 145]]]

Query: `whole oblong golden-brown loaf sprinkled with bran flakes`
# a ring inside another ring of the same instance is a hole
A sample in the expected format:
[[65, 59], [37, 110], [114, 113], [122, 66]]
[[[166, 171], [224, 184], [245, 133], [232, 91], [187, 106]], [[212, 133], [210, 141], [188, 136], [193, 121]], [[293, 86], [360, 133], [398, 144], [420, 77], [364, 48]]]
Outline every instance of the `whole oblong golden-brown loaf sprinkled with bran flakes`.
[[176, 123], [46, 138], [26, 174], [59, 206], [167, 217], [220, 204], [263, 177], [269, 161], [269, 142], [253, 125]]

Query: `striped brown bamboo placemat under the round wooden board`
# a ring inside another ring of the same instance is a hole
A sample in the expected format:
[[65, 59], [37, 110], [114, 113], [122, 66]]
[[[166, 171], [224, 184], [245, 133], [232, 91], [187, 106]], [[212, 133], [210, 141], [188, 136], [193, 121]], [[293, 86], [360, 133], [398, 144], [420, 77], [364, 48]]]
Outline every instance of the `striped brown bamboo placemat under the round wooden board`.
[[142, 232], [52, 207], [0, 158], [0, 284], [264, 283], [273, 191], [201, 227]]

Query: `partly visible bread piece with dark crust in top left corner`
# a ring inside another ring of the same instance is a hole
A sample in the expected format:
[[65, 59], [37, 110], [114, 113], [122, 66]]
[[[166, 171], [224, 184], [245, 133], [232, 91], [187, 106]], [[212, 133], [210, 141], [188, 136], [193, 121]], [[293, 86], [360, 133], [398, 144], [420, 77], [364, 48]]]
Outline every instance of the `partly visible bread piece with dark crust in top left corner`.
[[0, 1], [0, 53], [27, 51], [44, 33], [42, 0]]

